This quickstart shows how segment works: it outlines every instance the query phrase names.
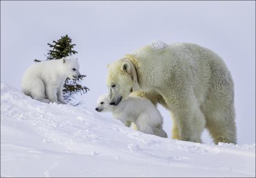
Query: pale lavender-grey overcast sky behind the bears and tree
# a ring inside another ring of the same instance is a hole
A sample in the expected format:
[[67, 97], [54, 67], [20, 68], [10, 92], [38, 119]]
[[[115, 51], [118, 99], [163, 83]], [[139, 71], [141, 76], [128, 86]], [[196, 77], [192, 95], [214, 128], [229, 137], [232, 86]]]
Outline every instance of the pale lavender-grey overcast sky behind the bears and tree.
[[[255, 1], [1, 1], [1, 82], [20, 90], [25, 69], [66, 34], [87, 75], [90, 91], [79, 99], [90, 110], [107, 92], [107, 63], [151, 41], [215, 51], [235, 81], [238, 143], [255, 143]], [[170, 137], [170, 114], [159, 109]]]

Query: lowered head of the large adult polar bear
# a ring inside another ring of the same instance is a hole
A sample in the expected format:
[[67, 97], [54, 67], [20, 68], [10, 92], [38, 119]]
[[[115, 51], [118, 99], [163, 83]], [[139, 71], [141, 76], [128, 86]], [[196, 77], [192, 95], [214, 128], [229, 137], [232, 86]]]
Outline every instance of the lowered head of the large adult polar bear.
[[122, 99], [127, 99], [133, 82], [130, 63], [121, 59], [109, 64], [106, 84], [110, 104], [118, 105]]

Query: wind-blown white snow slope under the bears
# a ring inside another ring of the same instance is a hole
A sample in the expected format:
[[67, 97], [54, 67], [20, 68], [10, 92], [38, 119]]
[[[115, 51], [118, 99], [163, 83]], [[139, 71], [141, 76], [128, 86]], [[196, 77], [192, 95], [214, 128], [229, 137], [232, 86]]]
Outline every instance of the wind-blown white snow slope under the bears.
[[41, 103], [1, 84], [4, 176], [255, 177], [255, 144], [148, 135], [82, 106]]

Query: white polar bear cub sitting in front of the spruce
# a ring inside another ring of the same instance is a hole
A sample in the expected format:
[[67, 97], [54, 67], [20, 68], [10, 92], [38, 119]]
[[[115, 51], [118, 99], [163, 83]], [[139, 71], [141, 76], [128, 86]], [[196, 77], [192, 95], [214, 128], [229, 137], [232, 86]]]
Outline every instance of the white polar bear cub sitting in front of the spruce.
[[22, 91], [41, 102], [66, 104], [62, 97], [65, 80], [80, 77], [78, 58], [66, 57], [31, 65], [21, 81]]

